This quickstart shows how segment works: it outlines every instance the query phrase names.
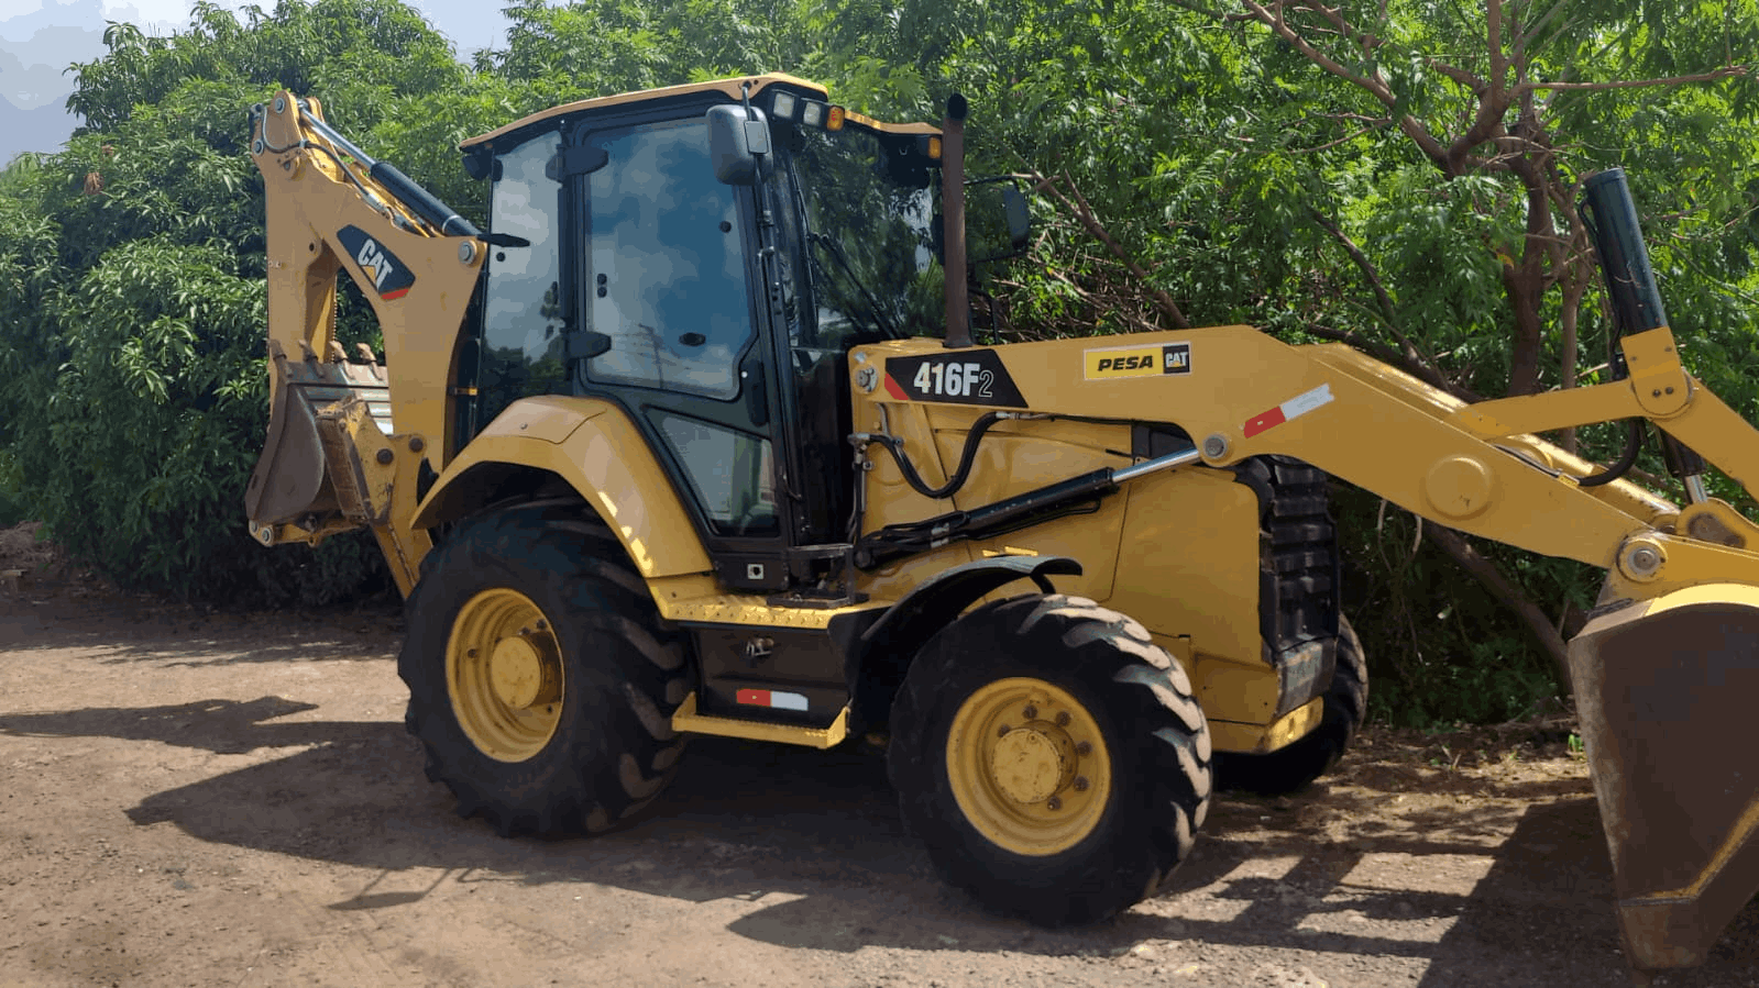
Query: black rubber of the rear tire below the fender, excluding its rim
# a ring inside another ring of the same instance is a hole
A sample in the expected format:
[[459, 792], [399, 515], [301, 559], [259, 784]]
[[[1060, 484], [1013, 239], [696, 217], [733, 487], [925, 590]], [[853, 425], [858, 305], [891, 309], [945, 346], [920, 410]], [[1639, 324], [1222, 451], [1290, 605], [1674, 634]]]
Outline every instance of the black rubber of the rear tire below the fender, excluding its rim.
[[[422, 561], [406, 603], [398, 675], [405, 724], [427, 751], [427, 779], [503, 837], [598, 833], [646, 807], [677, 770], [672, 712], [690, 689], [682, 640], [663, 629], [623, 547], [579, 505], [503, 508], [461, 522]], [[485, 589], [529, 598], [554, 628], [565, 686], [554, 733], [524, 761], [484, 754], [447, 689], [447, 638]]]

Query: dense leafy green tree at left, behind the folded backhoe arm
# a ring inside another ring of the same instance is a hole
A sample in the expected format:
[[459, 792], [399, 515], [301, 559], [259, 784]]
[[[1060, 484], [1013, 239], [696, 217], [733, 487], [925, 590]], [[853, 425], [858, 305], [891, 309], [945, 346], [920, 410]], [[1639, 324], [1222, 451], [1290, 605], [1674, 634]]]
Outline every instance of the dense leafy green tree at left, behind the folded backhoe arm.
[[[322, 90], [362, 144], [427, 165], [434, 144], [500, 123], [505, 86], [478, 84], [396, 0], [287, 0], [243, 21], [204, 4], [169, 37], [113, 25], [106, 42], [76, 67], [69, 148], [0, 183], [0, 369], [16, 385], [0, 396], [0, 487], [125, 585], [354, 592], [378, 570], [371, 543], [264, 552], [243, 533], [267, 420], [246, 111], [283, 86]], [[449, 156], [450, 190], [480, 200]], [[357, 299], [341, 332], [376, 336]]]

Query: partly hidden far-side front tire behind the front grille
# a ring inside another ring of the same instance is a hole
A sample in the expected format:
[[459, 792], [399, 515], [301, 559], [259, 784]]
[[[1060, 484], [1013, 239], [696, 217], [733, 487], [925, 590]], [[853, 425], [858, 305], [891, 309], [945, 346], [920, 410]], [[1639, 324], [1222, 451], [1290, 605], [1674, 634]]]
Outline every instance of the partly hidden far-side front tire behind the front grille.
[[1337, 768], [1369, 712], [1369, 663], [1361, 638], [1337, 619], [1337, 665], [1325, 691], [1319, 726], [1302, 740], [1270, 754], [1215, 752], [1215, 786], [1233, 793], [1282, 796], [1310, 786]]

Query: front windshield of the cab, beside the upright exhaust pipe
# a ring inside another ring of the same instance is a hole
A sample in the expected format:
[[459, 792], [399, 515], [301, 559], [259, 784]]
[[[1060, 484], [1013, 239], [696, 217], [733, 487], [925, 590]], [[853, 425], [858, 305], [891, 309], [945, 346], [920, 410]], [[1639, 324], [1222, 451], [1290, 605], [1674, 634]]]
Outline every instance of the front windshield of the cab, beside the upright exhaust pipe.
[[[800, 230], [811, 318], [790, 313], [795, 346], [843, 352], [855, 343], [939, 336], [945, 322], [941, 264], [932, 222], [938, 172], [887, 148], [878, 134], [783, 125], [788, 149], [785, 229]], [[902, 148], [902, 144], [899, 144]], [[799, 301], [790, 299], [793, 306]]]

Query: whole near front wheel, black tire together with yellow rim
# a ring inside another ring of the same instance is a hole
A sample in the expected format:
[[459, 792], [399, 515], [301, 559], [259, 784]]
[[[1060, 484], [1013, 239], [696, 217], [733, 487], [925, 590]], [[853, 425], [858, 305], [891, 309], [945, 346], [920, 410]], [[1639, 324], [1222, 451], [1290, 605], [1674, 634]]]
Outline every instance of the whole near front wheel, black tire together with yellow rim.
[[887, 751], [952, 884], [1041, 925], [1154, 895], [1210, 795], [1208, 723], [1136, 621], [1082, 598], [985, 605], [918, 652]]

